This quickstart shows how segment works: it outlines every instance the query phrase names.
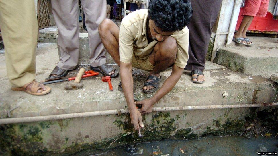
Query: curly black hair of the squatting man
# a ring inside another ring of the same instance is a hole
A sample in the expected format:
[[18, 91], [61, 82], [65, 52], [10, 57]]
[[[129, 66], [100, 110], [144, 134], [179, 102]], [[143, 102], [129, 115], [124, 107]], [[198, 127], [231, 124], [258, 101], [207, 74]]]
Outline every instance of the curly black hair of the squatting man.
[[151, 0], [148, 16], [163, 32], [180, 31], [191, 19], [191, 3], [189, 0]]

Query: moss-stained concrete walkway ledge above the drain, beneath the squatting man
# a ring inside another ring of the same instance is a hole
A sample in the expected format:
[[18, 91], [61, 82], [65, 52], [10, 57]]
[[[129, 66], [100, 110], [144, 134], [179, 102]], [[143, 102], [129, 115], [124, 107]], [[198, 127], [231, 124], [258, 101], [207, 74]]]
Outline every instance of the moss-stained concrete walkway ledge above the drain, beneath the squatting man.
[[[57, 62], [56, 44], [39, 43], [36, 79], [44, 80]], [[89, 66], [82, 67], [88, 70]], [[207, 67], [204, 71], [204, 84], [192, 83], [190, 72], [185, 71], [173, 90], [160, 99], [155, 107], [269, 103], [277, 96], [277, 88], [267, 79], [250, 79], [210, 62]], [[77, 70], [71, 71], [68, 77], [75, 74]], [[161, 73], [160, 87], [170, 74], [171, 70]], [[136, 100], [154, 95], [142, 93], [147, 76], [148, 72], [133, 68]], [[113, 91], [109, 90], [106, 82], [101, 81], [101, 76], [95, 76], [82, 79], [84, 87], [79, 90], [64, 90], [66, 83], [56, 83], [48, 85], [52, 91], [44, 96], [15, 92], [9, 88], [5, 57], [0, 54], [0, 118], [7, 118], [6, 111], [13, 108], [16, 109], [11, 111], [11, 118], [126, 108], [124, 94], [117, 89], [120, 77], [111, 81]], [[249, 108], [152, 112], [143, 115], [143, 138], [138, 138], [137, 132], [133, 130], [128, 114], [6, 124], [0, 125], [1, 136], [4, 138], [0, 139], [0, 144], [8, 152], [15, 151], [16, 148], [16, 153], [26, 155], [46, 152], [69, 155], [80, 150], [88, 152], [84, 155], [92, 155], [117, 146], [163, 138], [187, 139], [206, 134], [241, 134], [244, 131], [244, 117], [252, 113], [254, 109]]]

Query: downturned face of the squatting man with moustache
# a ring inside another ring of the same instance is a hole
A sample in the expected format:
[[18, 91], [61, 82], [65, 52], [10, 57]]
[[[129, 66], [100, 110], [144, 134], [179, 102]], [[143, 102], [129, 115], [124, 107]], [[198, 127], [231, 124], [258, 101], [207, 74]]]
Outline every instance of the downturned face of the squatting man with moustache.
[[164, 39], [166, 39], [168, 36], [171, 36], [172, 34], [174, 34], [175, 32], [162, 32], [160, 28], [158, 28], [154, 21], [150, 19], [149, 21], [149, 28], [150, 28], [150, 32], [151, 32], [151, 36], [152, 39], [154, 41], [163, 41]]

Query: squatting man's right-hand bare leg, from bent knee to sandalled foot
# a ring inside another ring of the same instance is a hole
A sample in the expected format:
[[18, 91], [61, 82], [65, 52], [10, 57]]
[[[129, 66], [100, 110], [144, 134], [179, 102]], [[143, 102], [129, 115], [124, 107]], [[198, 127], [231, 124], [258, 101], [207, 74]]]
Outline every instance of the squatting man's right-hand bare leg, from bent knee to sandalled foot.
[[[165, 71], [169, 66], [173, 65], [177, 55], [177, 42], [176, 40], [169, 36], [164, 41], [158, 42], [154, 51], [150, 55], [150, 63], [154, 65], [154, 70], [150, 71], [149, 75], [154, 75], [159, 77], [160, 72]], [[152, 80], [147, 80], [150, 82]], [[153, 89], [153, 86], [144, 86], [144, 90]]]

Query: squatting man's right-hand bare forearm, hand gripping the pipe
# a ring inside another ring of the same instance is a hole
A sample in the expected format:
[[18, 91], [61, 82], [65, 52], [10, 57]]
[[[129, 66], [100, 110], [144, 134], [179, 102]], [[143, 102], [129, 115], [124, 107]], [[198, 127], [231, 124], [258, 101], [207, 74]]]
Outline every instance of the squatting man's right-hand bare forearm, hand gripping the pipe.
[[169, 93], [177, 84], [177, 82], [181, 78], [181, 74], [183, 73], [183, 70], [184, 70], [183, 68], [173, 65], [173, 70], [171, 75], [165, 80], [162, 87], [156, 92], [156, 94], [150, 99], [136, 102], [136, 104], [143, 105], [142, 109], [140, 109], [140, 112], [142, 114], [152, 112], [152, 108], [154, 107], [154, 104], [158, 100], [160, 100], [163, 96], [165, 96], [167, 93]]

